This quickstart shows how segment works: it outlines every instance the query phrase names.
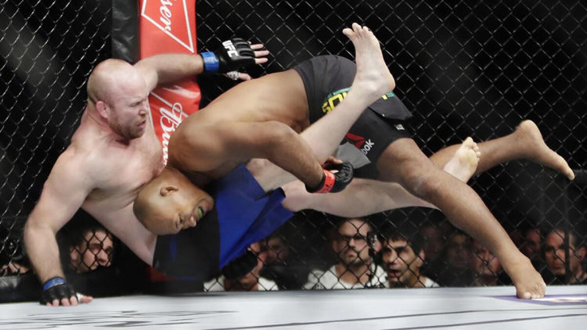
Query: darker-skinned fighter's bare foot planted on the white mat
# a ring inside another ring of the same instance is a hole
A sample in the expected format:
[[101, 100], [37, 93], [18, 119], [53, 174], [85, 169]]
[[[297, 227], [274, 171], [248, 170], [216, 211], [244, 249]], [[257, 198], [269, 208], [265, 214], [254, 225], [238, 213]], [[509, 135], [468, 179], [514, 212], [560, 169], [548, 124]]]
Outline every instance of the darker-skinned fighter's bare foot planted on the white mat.
[[537, 299], [544, 297], [546, 284], [530, 260], [524, 255], [511, 264], [504, 264], [504, 269], [515, 285], [518, 298]]

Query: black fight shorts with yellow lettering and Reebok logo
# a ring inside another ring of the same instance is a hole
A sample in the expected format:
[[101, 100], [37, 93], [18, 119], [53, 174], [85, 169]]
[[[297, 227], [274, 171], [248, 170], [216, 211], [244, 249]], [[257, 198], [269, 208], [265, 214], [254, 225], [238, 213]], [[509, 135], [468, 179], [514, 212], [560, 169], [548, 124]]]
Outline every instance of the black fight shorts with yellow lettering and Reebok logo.
[[[314, 123], [345, 99], [355, 79], [356, 65], [349, 59], [326, 55], [306, 60], [294, 70], [302, 78], [310, 122]], [[410, 111], [393, 92], [383, 95], [353, 124], [335, 157], [350, 161], [356, 177], [376, 179], [375, 163], [387, 146], [398, 139], [411, 139], [404, 122], [410, 117]]]

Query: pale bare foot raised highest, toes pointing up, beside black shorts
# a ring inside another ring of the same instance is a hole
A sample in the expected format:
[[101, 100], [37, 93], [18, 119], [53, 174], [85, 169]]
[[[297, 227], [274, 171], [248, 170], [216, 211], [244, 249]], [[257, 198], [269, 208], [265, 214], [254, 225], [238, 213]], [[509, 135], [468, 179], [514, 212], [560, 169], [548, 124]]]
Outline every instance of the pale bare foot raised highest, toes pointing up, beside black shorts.
[[369, 96], [373, 102], [391, 92], [396, 87], [396, 82], [383, 60], [379, 40], [373, 32], [357, 23], [353, 23], [352, 29], [346, 28], [342, 32], [355, 45], [357, 73], [351, 90]]

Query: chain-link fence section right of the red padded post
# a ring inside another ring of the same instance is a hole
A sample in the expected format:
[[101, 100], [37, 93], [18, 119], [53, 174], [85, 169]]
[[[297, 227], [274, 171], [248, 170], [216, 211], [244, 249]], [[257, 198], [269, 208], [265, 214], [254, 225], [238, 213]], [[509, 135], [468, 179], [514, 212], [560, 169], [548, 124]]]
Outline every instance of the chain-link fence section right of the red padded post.
[[[232, 36], [265, 43], [271, 62], [251, 70], [261, 75], [316, 55], [352, 58], [341, 31], [352, 22], [365, 24], [382, 43], [397, 82], [394, 92], [413, 111], [409, 124], [425, 153], [467, 136], [495, 139], [531, 119], [546, 144], [580, 172], [586, 161], [585, 14], [587, 5], [580, 1], [199, 1], [197, 31], [200, 49]], [[204, 103], [231, 86], [215, 78], [201, 81]], [[552, 170], [517, 161], [470, 184], [546, 283], [555, 284], [585, 280], [581, 181], [569, 183]], [[379, 237], [371, 246], [359, 229], [335, 230], [328, 215], [298, 214], [261, 244], [265, 266], [258, 289], [511, 284], [489, 251], [437, 211], [406, 209], [373, 217], [365, 219]], [[554, 227], [576, 235], [576, 241], [573, 235], [571, 240], [555, 235], [565, 239], [566, 254], [560, 246], [556, 254], [547, 252], [556, 244], [549, 235]], [[349, 249], [352, 262], [345, 261]], [[280, 251], [286, 251], [285, 260], [267, 256]], [[387, 280], [378, 282], [382, 272]], [[233, 289], [251, 288], [222, 281]]]

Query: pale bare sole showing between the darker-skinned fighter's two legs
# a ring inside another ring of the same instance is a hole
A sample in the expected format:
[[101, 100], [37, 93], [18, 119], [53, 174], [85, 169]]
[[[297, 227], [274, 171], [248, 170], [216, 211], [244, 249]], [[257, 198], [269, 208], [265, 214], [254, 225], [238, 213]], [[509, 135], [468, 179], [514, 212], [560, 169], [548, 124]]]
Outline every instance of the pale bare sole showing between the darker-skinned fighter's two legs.
[[479, 151], [477, 143], [471, 137], [467, 137], [458, 147], [453, 158], [444, 165], [444, 171], [458, 180], [467, 182], [477, 170], [480, 157], [481, 151]]

